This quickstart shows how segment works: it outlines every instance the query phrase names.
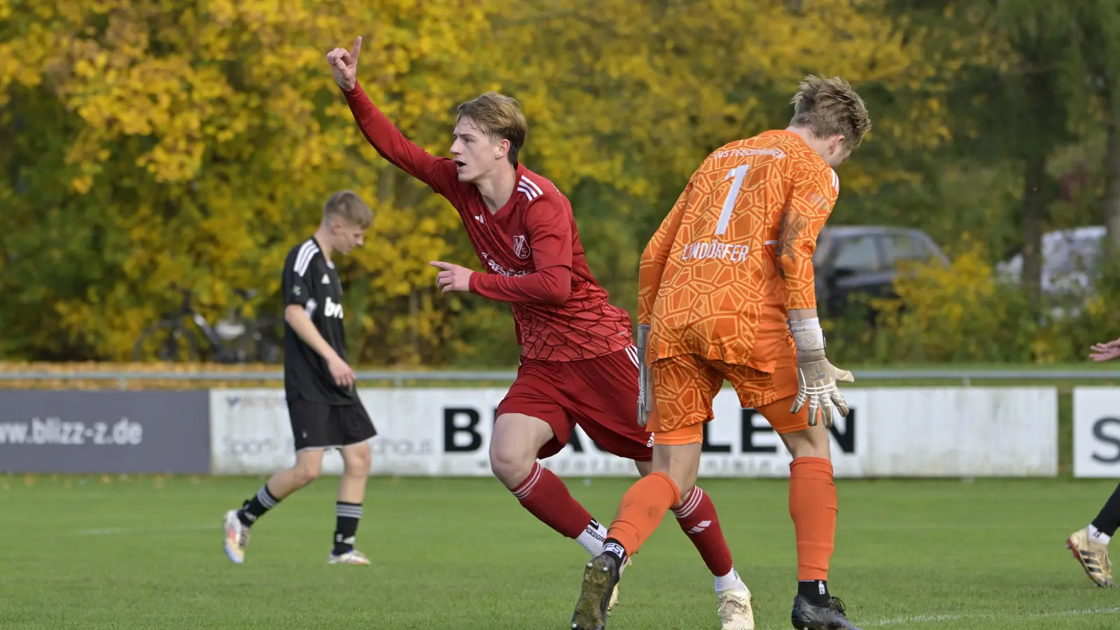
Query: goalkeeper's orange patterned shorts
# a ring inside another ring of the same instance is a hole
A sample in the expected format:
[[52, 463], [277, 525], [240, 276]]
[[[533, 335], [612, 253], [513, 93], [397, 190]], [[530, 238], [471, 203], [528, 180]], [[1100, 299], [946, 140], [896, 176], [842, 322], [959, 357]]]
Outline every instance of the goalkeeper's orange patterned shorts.
[[[653, 397], [656, 410], [650, 415], [646, 430], [653, 432], [654, 444], [698, 444], [703, 441], [703, 425], [711, 420], [711, 401], [724, 381], [731, 381], [739, 405], [754, 408], [777, 433], [809, 428], [805, 407], [790, 413], [797, 393], [796, 360], [793, 354], [778, 361], [774, 373], [760, 372], [749, 365], [737, 365], [681, 354], [653, 363]], [[808, 406], [806, 406], [808, 407]]]

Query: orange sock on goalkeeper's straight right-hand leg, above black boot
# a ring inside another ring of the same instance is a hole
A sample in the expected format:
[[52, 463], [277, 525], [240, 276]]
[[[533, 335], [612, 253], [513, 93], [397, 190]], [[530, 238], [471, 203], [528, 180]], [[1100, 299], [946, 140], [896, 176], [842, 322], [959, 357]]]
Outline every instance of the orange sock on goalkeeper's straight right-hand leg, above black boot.
[[790, 464], [790, 516], [797, 536], [797, 581], [828, 580], [837, 532], [832, 462], [797, 457]]

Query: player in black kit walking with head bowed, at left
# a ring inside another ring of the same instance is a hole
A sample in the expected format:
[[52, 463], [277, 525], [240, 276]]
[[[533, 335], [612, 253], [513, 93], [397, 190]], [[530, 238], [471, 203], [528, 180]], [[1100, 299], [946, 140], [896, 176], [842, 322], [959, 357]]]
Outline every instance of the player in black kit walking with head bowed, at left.
[[284, 497], [315, 481], [323, 454], [338, 448], [344, 470], [336, 503], [337, 525], [329, 564], [367, 565], [354, 548], [365, 482], [370, 475], [373, 421], [354, 387], [346, 363], [343, 288], [330, 261], [361, 245], [373, 211], [356, 194], [343, 191], [323, 209], [315, 234], [288, 252], [281, 282], [284, 302], [284, 391], [295, 438], [296, 465], [272, 475], [240, 510], [225, 513], [225, 553], [245, 560], [249, 529]]

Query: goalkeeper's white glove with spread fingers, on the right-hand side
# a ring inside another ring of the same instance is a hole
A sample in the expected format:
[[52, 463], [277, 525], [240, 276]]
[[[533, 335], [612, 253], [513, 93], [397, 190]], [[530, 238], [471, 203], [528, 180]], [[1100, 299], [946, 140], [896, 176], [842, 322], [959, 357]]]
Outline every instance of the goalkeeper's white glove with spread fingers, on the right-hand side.
[[816, 426], [820, 415], [824, 426], [831, 427], [833, 405], [841, 416], [848, 416], [848, 404], [837, 382], [855, 382], [856, 377], [824, 358], [824, 333], [819, 318], [790, 322], [790, 332], [797, 344], [797, 396], [790, 413], [796, 414], [808, 402], [809, 426]]

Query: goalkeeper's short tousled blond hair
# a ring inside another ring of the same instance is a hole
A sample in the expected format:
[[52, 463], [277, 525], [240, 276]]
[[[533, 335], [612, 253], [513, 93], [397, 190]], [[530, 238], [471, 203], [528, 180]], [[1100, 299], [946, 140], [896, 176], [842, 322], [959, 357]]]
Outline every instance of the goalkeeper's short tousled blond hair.
[[791, 101], [791, 127], [805, 127], [818, 138], [841, 135], [855, 149], [871, 129], [871, 119], [859, 94], [839, 76], [821, 78], [810, 74], [801, 80]]

